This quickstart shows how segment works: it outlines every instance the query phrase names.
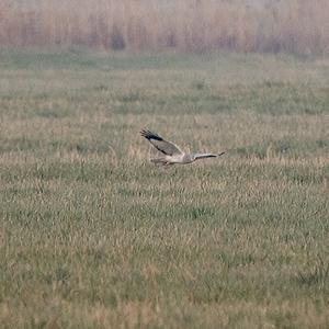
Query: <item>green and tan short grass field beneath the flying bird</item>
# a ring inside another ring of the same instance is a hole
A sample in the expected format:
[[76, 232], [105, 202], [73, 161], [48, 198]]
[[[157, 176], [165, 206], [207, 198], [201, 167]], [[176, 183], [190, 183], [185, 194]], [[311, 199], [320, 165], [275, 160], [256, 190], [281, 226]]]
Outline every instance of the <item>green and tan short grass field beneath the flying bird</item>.
[[[329, 59], [0, 52], [1, 328], [328, 328]], [[160, 170], [149, 128], [220, 159]]]

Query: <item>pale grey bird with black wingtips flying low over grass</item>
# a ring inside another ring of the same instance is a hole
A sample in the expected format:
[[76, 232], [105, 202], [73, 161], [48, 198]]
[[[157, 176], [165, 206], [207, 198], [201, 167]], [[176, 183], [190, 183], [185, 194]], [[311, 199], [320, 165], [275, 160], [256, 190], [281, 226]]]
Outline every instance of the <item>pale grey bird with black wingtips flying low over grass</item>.
[[163, 154], [160, 158], [150, 159], [157, 166], [171, 166], [175, 163], [188, 164], [198, 159], [217, 158], [225, 154], [185, 154], [177, 145], [164, 140], [158, 134], [143, 129], [140, 135], [145, 137], [157, 150]]

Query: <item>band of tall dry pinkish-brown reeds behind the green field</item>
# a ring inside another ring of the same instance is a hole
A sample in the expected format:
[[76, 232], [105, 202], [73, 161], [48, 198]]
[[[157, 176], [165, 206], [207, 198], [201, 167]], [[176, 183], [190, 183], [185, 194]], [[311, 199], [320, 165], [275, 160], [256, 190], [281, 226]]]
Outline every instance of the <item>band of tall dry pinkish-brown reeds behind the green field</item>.
[[[163, 1], [164, 2], [164, 1]], [[0, 45], [327, 53], [327, 0], [0, 0]], [[254, 2], [252, 2], [254, 3]]]

